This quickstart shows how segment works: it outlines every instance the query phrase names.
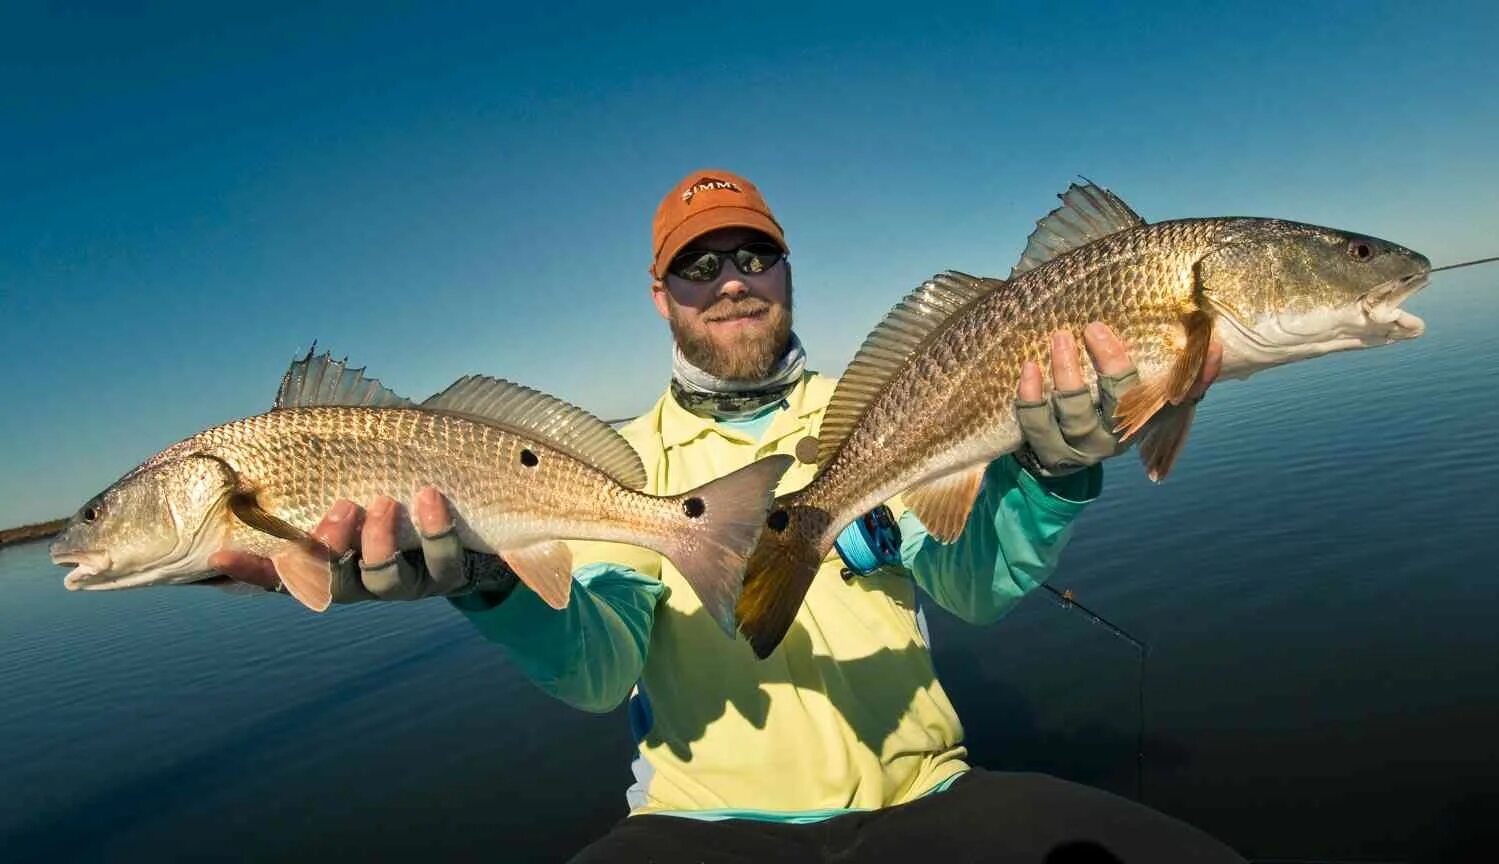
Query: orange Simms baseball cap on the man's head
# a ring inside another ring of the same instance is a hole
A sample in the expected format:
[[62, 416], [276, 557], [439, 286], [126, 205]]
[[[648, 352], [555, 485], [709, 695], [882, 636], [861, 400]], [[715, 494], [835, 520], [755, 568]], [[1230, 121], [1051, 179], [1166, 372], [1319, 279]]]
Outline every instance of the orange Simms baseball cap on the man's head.
[[754, 183], [732, 171], [693, 171], [672, 188], [651, 224], [655, 256], [651, 274], [666, 278], [666, 266], [688, 243], [720, 228], [752, 228], [769, 234], [790, 252], [779, 222]]

